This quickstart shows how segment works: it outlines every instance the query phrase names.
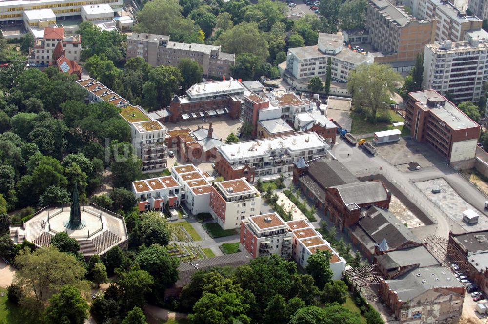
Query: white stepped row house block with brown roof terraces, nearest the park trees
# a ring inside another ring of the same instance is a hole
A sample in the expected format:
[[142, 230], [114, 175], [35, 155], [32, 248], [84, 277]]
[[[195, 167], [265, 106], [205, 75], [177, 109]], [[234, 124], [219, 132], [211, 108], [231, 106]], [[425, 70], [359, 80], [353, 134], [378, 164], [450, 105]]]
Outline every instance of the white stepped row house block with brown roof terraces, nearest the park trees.
[[342, 273], [346, 268], [346, 260], [322, 238], [322, 234], [317, 232], [310, 223], [305, 220], [286, 222], [293, 233], [292, 257], [296, 263], [305, 268], [308, 264], [308, 258], [317, 251], [329, 251], [332, 254], [330, 258], [330, 270], [333, 273], [333, 280], [342, 278]]

